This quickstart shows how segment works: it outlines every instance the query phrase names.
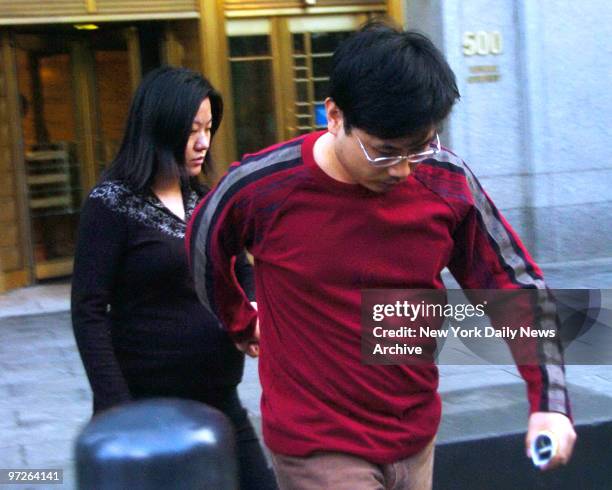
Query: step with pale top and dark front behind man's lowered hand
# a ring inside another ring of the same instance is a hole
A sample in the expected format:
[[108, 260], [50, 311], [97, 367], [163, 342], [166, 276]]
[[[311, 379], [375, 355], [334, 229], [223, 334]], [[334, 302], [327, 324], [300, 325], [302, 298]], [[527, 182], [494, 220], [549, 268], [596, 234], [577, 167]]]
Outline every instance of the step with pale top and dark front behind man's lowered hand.
[[568, 389], [578, 441], [570, 463], [552, 472], [525, 456], [523, 385], [483, 387], [476, 398], [473, 389], [445, 393], [434, 488], [612, 489], [612, 399], [584, 386]]

